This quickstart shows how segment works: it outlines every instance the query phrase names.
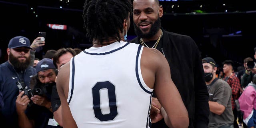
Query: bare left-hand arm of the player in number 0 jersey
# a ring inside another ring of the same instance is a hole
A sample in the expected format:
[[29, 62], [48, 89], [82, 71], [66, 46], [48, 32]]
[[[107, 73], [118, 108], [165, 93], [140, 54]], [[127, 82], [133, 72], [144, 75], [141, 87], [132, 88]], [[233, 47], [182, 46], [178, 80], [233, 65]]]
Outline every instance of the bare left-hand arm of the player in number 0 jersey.
[[70, 63], [68, 62], [60, 68], [57, 79], [57, 90], [60, 96], [60, 102], [62, 106], [62, 122], [63, 127], [66, 128], [77, 128], [76, 122], [71, 114], [68, 106], [68, 88], [69, 88], [69, 74], [70, 74]]

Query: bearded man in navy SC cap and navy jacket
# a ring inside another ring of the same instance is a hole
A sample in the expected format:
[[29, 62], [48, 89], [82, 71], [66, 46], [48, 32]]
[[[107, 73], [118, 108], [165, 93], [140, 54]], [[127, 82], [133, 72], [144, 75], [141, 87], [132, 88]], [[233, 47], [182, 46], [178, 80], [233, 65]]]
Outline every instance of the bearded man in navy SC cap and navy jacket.
[[28, 38], [23, 36], [12, 38], [6, 50], [8, 61], [0, 65], [0, 92], [4, 100], [4, 106], [0, 110], [0, 120], [1, 125], [8, 128], [18, 128], [15, 101], [20, 88], [30, 89], [30, 78], [36, 74], [36, 69], [29, 66], [30, 49], [32, 48]]

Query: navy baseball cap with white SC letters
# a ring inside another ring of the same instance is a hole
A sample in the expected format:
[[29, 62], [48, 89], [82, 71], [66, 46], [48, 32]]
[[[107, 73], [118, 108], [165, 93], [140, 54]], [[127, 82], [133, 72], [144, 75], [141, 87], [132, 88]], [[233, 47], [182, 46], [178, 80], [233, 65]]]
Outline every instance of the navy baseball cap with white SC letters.
[[30, 41], [28, 40], [28, 38], [24, 36], [16, 36], [9, 41], [8, 48], [18, 48], [18, 47], [30, 48]]

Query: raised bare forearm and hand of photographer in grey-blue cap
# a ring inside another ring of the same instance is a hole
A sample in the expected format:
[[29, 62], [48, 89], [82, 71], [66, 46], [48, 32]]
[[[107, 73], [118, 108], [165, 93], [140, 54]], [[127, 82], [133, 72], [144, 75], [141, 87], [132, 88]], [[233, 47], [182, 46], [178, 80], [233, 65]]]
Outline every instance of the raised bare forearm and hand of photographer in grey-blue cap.
[[16, 111], [18, 114], [18, 123], [20, 128], [34, 128], [34, 121], [29, 120], [28, 116], [25, 114], [25, 110], [30, 102], [28, 96], [22, 96], [24, 91], [22, 91], [16, 99]]

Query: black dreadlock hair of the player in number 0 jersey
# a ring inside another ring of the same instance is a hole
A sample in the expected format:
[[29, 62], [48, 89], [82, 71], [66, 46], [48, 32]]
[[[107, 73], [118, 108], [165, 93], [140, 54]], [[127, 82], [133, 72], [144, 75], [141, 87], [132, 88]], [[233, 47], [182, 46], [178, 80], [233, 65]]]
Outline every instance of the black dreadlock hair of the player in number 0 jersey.
[[84, 2], [84, 29], [86, 37], [102, 42], [114, 37], [120, 42], [119, 31], [123, 32], [124, 19], [132, 13], [130, 0], [86, 0]]

